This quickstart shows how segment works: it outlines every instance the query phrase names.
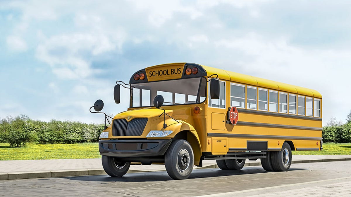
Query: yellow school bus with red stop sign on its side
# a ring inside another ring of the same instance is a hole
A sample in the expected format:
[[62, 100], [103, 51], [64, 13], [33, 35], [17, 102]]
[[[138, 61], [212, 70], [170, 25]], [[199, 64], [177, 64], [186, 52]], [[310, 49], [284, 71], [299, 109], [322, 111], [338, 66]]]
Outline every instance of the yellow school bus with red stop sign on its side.
[[[260, 159], [266, 171], [287, 171], [291, 150], [323, 148], [316, 90], [195, 63], [151, 66], [129, 84], [117, 81], [116, 103], [121, 87], [130, 89], [130, 107], [99, 140], [110, 176], [125, 175], [131, 164], [164, 164], [170, 177], [186, 179], [206, 159], [222, 170]], [[93, 107], [100, 111], [103, 102]]]

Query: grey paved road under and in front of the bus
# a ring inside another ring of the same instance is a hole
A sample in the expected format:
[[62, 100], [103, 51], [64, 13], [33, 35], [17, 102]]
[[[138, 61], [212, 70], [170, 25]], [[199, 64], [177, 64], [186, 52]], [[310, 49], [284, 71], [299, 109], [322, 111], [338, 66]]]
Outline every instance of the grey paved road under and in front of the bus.
[[[229, 192], [229, 193], [228, 193]], [[351, 161], [292, 164], [288, 172], [261, 167], [194, 170], [186, 180], [165, 171], [0, 181], [0, 196], [351, 196]]]

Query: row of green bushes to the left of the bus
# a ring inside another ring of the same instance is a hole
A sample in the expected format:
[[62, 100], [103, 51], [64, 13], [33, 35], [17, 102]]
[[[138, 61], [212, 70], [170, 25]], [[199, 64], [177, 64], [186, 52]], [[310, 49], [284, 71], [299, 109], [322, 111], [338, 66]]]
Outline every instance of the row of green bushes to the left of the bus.
[[26, 115], [8, 116], [0, 120], [0, 142], [11, 147], [27, 143], [59, 144], [98, 142], [104, 124], [86, 124], [74, 121], [32, 120]]

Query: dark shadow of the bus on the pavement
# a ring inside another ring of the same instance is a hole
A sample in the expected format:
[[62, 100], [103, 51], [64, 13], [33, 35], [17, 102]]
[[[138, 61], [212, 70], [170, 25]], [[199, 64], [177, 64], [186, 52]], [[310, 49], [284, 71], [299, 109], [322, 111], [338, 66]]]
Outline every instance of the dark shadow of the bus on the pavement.
[[[306, 168], [291, 168], [289, 171], [309, 170]], [[188, 179], [222, 177], [233, 175], [249, 175], [249, 174], [264, 174], [264, 173], [282, 173], [282, 172], [267, 172], [260, 167], [243, 168], [242, 170], [220, 170], [215, 169], [196, 169], [193, 170]], [[157, 182], [157, 181], [172, 181], [166, 171], [156, 172], [138, 172], [127, 173], [123, 177], [110, 177], [108, 175], [91, 175], [78, 177], [62, 177], [77, 181], [96, 181], [96, 182]], [[174, 180], [176, 181], [176, 180]]]

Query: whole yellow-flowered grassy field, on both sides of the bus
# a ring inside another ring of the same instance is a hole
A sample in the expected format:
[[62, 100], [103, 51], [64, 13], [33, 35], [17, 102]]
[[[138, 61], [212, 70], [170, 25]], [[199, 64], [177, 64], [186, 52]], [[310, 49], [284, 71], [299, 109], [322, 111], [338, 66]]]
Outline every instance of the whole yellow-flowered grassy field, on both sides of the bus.
[[[351, 155], [351, 143], [324, 143], [323, 151], [292, 151], [294, 155]], [[0, 160], [31, 159], [84, 159], [101, 158], [98, 143], [85, 144], [28, 144], [23, 148], [11, 148], [0, 143]]]

